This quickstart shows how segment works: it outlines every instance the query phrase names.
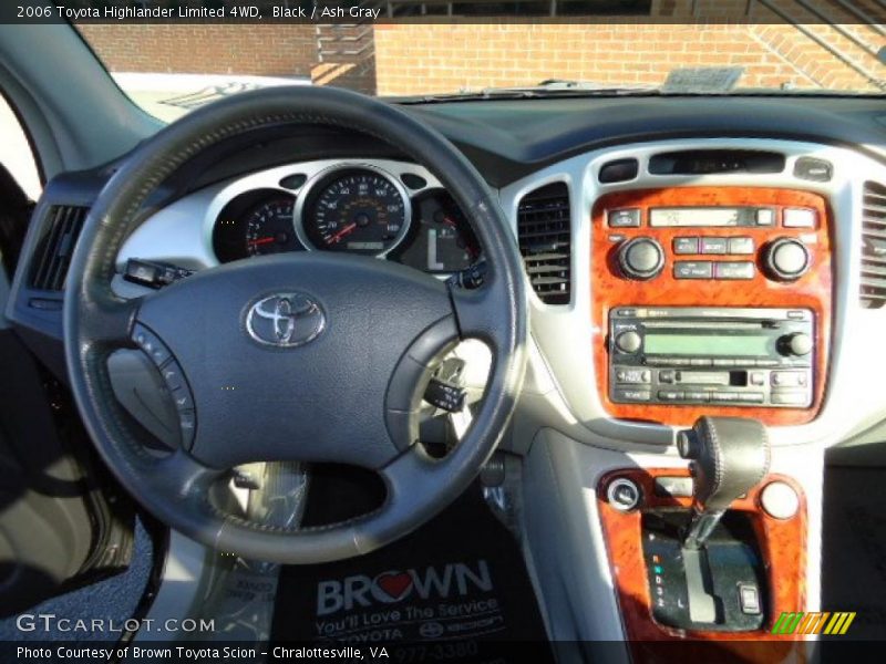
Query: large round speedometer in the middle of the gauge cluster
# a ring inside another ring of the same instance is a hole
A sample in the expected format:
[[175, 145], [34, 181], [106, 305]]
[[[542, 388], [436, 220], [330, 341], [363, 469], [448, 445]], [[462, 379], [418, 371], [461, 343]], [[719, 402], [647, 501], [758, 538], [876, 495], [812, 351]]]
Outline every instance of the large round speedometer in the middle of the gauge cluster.
[[321, 176], [300, 212], [302, 240], [328, 251], [384, 256], [409, 230], [409, 197], [402, 186], [370, 168]]

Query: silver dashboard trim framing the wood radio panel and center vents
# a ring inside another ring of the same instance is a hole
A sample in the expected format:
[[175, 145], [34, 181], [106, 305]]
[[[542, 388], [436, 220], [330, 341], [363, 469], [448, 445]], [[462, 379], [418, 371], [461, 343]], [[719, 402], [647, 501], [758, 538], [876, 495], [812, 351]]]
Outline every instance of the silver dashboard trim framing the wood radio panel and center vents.
[[[785, 154], [786, 166], [777, 175], [662, 176], [649, 173], [649, 158], [658, 152], [699, 148], [777, 151]], [[794, 164], [801, 156], [830, 160], [834, 165], [833, 179], [814, 183], [794, 177]], [[598, 181], [597, 174], [604, 163], [627, 157], [639, 159], [639, 174], [635, 179], [618, 184]], [[576, 439], [602, 447], [649, 449], [649, 445], [673, 443], [673, 427], [616, 421], [609, 417], [600, 403], [591, 347], [590, 247], [595, 229], [591, 228], [590, 210], [594, 201], [609, 191], [690, 185], [805, 189], [824, 195], [833, 211], [836, 273], [825, 401], [814, 422], [772, 427], [773, 444], [833, 445], [853, 432], [886, 418], [886, 402], [879, 396], [876, 385], [876, 377], [886, 371], [886, 346], [882, 341], [886, 335], [886, 310], [865, 310], [858, 302], [862, 195], [866, 179], [886, 183], [886, 167], [847, 148], [765, 138], [707, 138], [637, 143], [594, 151], [548, 166], [503, 188], [501, 203], [515, 235], [517, 205], [523, 196], [553, 181], [566, 183], [570, 193], [571, 302], [550, 305], [530, 294], [533, 338], [556, 385], [556, 394], [545, 395], [549, 404], [545, 409], [552, 417], [548, 426], [556, 425]], [[528, 388], [533, 392], [532, 385]], [[558, 413], [562, 406], [555, 403], [556, 400], [565, 402], [566, 417]], [[543, 417], [542, 413], [538, 415]], [[519, 443], [517, 447], [522, 447]]]

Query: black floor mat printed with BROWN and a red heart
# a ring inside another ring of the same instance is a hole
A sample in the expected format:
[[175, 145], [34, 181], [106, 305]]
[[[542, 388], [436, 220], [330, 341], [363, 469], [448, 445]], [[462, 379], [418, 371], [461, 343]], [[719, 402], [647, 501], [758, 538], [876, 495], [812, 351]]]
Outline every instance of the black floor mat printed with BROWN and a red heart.
[[379, 551], [286, 567], [271, 640], [389, 649], [445, 644], [450, 662], [477, 661], [477, 647], [502, 662], [526, 661], [525, 652], [521, 658], [513, 643], [505, 644], [514, 641], [533, 642], [539, 650], [534, 661], [549, 653], [516, 539], [490, 511], [478, 485]]

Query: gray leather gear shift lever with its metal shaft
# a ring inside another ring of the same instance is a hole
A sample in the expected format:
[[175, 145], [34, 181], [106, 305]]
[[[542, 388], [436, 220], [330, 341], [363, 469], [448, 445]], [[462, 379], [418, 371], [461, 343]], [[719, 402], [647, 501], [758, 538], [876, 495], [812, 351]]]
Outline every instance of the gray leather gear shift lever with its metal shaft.
[[698, 550], [713, 532], [727, 508], [769, 473], [765, 427], [743, 417], [700, 417], [677, 438], [680, 456], [692, 459], [696, 507], [683, 548]]

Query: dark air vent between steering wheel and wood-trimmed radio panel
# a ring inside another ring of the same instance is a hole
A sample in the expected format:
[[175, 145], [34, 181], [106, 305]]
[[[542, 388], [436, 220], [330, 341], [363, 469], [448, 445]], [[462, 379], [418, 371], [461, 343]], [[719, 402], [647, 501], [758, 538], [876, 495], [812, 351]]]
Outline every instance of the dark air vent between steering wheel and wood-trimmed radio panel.
[[533, 290], [547, 304], [569, 303], [570, 235], [565, 183], [544, 186], [519, 201], [519, 252]]

